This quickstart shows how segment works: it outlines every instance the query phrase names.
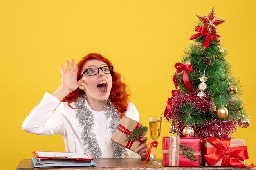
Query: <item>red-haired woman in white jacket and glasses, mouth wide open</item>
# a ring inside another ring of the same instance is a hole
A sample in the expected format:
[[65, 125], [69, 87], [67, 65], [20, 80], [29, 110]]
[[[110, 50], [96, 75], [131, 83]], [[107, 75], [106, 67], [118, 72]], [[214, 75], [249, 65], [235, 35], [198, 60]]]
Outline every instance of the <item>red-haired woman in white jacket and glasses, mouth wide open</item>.
[[128, 102], [126, 85], [110, 61], [101, 54], [88, 54], [75, 67], [73, 59], [70, 65], [66, 61], [61, 74], [61, 85], [53, 94], [45, 93], [23, 122], [23, 130], [61, 134], [66, 152], [83, 152], [92, 158], [144, 158], [147, 137], [135, 152], [111, 141], [121, 118], [139, 122], [139, 113]]

